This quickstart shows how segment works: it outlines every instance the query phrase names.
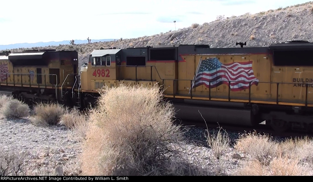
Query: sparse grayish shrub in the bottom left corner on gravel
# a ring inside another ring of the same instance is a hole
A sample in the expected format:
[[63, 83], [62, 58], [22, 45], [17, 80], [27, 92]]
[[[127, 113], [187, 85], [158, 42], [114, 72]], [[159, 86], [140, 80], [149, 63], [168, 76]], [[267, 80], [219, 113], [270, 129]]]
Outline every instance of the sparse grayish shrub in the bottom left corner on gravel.
[[26, 153], [8, 153], [0, 150], [0, 176], [25, 175], [25, 158]]

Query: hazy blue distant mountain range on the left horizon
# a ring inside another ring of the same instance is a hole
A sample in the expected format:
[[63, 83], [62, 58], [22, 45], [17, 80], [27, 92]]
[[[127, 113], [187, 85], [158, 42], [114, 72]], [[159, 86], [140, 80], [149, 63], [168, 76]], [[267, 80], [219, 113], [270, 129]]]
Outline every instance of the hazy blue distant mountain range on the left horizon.
[[[95, 42], [108, 42], [115, 39], [100, 39], [100, 40], [91, 40], [91, 43]], [[117, 39], [116, 39], [117, 40]], [[58, 46], [59, 44], [70, 44], [70, 40], [64, 40], [60, 42], [37, 42], [37, 43], [15, 43], [10, 45], [0, 45], [0, 50], [5, 49], [16, 49], [16, 48], [32, 48], [32, 47], [47, 47], [47, 46]], [[75, 44], [88, 43], [88, 40], [74, 40]]]

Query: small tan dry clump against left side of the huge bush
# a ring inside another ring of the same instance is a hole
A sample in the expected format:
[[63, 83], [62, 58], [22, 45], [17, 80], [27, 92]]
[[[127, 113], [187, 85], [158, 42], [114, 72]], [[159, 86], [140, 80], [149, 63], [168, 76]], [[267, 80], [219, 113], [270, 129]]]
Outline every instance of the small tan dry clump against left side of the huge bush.
[[77, 109], [72, 109], [61, 116], [60, 124], [68, 129], [78, 131], [85, 138], [88, 130], [88, 116], [80, 113]]

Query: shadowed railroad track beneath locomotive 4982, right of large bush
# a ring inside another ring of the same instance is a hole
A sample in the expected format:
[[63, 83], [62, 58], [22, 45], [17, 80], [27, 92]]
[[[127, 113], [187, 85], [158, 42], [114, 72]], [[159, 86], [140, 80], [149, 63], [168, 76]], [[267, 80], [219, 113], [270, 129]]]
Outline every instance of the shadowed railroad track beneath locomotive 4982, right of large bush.
[[296, 138], [296, 137], [312, 137], [312, 133], [303, 133], [299, 131], [287, 131], [287, 132], [277, 132], [274, 131], [269, 125], [266, 124], [258, 124], [255, 126], [240, 126], [240, 125], [230, 125], [230, 124], [217, 124], [217, 123], [205, 123], [204, 121], [191, 121], [191, 120], [175, 120], [175, 124], [180, 124], [182, 126], [190, 126], [190, 127], [200, 127], [206, 129], [218, 129], [218, 127], [222, 127], [224, 130], [238, 133], [249, 133], [256, 131], [260, 134], [269, 134], [272, 137], [280, 137], [280, 138]]

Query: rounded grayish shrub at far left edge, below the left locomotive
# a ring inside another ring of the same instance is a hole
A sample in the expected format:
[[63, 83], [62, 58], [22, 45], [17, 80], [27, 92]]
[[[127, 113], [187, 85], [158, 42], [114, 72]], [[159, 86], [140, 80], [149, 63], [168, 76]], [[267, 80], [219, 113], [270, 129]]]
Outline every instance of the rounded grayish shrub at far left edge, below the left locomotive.
[[[5, 100], [2, 98], [2, 100]], [[27, 104], [17, 99], [8, 99], [2, 105], [1, 113], [5, 117], [23, 118], [29, 115], [30, 109]]]

